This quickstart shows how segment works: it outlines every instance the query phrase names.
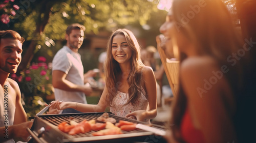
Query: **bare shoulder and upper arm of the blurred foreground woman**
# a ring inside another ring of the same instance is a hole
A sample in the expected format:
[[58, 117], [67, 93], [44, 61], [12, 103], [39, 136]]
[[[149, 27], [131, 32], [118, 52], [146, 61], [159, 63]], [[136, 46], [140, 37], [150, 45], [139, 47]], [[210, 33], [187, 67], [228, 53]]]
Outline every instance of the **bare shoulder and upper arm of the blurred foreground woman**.
[[186, 60], [180, 74], [191, 120], [205, 141], [236, 142], [232, 123], [234, 97], [218, 64], [209, 58]]

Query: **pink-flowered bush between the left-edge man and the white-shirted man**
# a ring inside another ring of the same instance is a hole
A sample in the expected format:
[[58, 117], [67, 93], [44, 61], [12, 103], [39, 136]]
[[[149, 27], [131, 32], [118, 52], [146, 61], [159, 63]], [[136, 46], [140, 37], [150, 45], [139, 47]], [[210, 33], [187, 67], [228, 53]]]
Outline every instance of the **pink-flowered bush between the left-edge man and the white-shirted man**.
[[19, 84], [28, 116], [35, 116], [45, 106], [47, 96], [53, 94], [52, 63], [47, 65], [44, 56], [39, 56], [37, 60], [38, 63], [32, 63], [20, 76], [10, 75]]

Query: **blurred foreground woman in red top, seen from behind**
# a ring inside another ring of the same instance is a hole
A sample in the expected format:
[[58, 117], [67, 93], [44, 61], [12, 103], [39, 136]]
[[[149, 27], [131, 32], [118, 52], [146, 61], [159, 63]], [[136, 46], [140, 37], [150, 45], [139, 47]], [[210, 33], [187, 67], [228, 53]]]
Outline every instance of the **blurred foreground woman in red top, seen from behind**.
[[248, 47], [233, 25], [220, 0], [173, 1], [160, 27], [166, 54], [178, 48], [180, 60], [169, 142], [237, 142], [234, 116]]

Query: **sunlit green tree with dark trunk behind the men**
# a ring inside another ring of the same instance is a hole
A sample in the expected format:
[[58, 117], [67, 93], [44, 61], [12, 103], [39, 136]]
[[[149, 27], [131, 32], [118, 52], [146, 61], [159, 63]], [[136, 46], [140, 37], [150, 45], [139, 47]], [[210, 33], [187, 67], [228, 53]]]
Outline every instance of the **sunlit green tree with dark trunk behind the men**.
[[86, 33], [97, 34], [102, 28], [112, 30], [137, 20], [143, 25], [158, 11], [158, 0], [20, 0], [14, 4], [20, 9], [4, 28], [18, 31], [30, 41], [18, 71], [30, 63], [37, 45], [43, 45], [46, 38], [62, 39], [71, 23], [81, 23]]

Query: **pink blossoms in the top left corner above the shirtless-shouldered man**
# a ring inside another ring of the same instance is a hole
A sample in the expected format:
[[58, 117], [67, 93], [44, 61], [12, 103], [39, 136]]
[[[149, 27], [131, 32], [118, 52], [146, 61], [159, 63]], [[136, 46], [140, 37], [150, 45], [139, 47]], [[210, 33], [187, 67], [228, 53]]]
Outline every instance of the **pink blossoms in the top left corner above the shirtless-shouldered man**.
[[0, 18], [1, 22], [5, 24], [9, 23], [10, 18], [16, 15], [14, 10], [19, 9], [17, 5], [12, 5], [10, 2], [14, 2], [14, 0], [5, 0], [0, 2]]

